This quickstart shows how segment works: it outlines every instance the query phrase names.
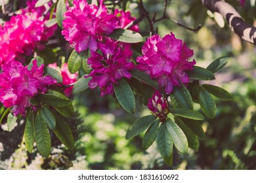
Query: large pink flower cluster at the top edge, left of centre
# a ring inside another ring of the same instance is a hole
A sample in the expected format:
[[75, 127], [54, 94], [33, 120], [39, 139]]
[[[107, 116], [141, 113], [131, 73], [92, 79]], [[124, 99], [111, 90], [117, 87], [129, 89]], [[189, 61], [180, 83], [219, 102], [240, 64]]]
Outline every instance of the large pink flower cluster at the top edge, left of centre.
[[65, 12], [62, 35], [75, 51], [89, 48], [92, 52], [98, 49], [97, 42], [102, 35], [109, 35], [120, 27], [119, 20], [110, 14], [103, 1], [100, 5], [89, 5], [85, 0], [74, 0], [74, 7]]

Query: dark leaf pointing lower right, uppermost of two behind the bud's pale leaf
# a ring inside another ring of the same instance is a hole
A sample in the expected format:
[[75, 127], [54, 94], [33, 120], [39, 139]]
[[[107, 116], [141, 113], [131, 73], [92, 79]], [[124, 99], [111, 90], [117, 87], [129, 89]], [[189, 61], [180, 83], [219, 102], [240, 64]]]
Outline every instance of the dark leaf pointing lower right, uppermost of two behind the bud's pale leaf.
[[196, 135], [196, 137], [198, 137], [199, 139], [205, 139], [204, 131], [203, 131], [202, 126], [200, 125], [200, 123], [198, 121], [190, 120], [190, 119], [187, 119], [187, 118], [182, 118], [182, 122], [184, 122], [186, 127], [188, 127], [188, 129], [190, 129], [190, 131], [194, 135]]

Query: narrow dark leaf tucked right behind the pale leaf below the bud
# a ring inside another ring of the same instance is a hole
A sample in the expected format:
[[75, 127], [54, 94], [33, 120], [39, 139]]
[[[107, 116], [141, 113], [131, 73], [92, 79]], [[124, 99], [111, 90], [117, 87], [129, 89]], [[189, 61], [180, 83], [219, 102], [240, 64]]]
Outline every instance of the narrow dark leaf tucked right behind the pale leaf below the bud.
[[199, 142], [196, 135], [190, 131], [190, 129], [184, 124], [184, 122], [182, 122], [180, 118], [176, 117], [175, 123], [179, 125], [183, 133], [186, 135], [186, 139], [188, 140], [188, 147], [198, 151]]

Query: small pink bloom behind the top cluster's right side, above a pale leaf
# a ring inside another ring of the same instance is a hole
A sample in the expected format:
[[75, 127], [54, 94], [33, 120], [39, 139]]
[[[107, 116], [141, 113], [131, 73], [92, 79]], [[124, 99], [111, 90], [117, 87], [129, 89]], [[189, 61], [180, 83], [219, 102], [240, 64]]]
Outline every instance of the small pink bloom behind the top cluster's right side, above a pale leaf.
[[[130, 24], [134, 20], [135, 17], [131, 16], [131, 12], [124, 12], [123, 10], [116, 9], [114, 14], [120, 19], [121, 28], [124, 28], [126, 25]], [[133, 25], [133, 27], [129, 28], [131, 31], [139, 32], [139, 26]]]

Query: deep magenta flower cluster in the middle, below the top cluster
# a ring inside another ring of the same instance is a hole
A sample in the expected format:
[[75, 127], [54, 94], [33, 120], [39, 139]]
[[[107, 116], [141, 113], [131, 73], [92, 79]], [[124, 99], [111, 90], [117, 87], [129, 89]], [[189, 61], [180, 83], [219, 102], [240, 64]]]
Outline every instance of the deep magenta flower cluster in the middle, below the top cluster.
[[88, 64], [93, 69], [89, 76], [91, 89], [100, 87], [101, 96], [114, 93], [114, 84], [121, 78], [131, 78], [129, 71], [135, 65], [131, 62], [132, 52], [130, 46], [119, 44], [111, 39], [106, 39], [105, 43], [98, 43], [102, 54], [91, 52]]

